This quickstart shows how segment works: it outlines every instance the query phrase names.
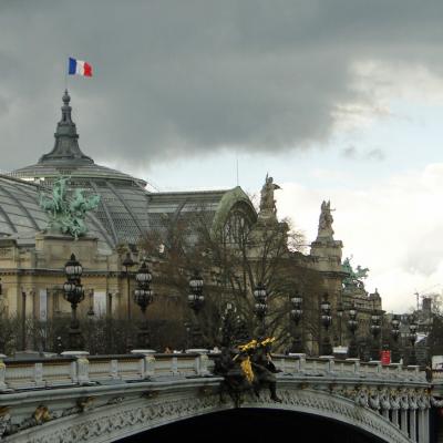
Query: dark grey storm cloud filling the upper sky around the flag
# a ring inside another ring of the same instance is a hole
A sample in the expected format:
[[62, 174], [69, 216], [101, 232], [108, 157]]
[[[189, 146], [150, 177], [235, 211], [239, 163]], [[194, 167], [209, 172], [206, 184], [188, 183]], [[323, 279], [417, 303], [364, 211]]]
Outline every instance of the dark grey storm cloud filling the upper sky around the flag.
[[[82, 150], [133, 164], [239, 146], [307, 148], [369, 104], [356, 62], [441, 73], [440, 1], [2, 1], [1, 169], [51, 150], [68, 55]], [[8, 153], [8, 155], [6, 155]]]

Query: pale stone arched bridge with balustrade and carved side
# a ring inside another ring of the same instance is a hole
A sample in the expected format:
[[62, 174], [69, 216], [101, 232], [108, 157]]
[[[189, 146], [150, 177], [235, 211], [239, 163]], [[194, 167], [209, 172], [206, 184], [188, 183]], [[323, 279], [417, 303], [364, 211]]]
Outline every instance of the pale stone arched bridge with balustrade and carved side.
[[[146, 430], [234, 408], [308, 413], [352, 425], [385, 442], [430, 441], [440, 406], [418, 367], [274, 356], [281, 403], [220, 395], [214, 354], [87, 356], [0, 360], [0, 441], [113, 442]], [[377, 439], [374, 439], [377, 440]]]

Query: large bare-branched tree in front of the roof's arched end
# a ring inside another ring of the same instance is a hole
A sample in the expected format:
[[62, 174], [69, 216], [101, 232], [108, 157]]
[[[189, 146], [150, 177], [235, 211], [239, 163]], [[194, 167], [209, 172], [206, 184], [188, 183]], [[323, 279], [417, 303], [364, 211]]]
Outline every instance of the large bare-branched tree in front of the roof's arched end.
[[[227, 303], [236, 307], [238, 321], [249, 336], [256, 334], [253, 290], [266, 287], [268, 311], [266, 330], [282, 350], [290, 331], [289, 299], [296, 290], [319, 293], [320, 277], [309, 269], [300, 253], [302, 234], [289, 228], [288, 220], [253, 224], [241, 212], [233, 212], [226, 223], [214, 228], [208, 210], [195, 206], [178, 219], [165, 220], [162, 230], [147, 233], [140, 247], [152, 257], [158, 278], [167, 279], [169, 296], [182, 300], [186, 317], [188, 278], [198, 269], [205, 280], [205, 309], [200, 322], [212, 343], [220, 341]], [[317, 298], [316, 298], [317, 300]], [[317, 301], [305, 298], [303, 334], [318, 338]]]

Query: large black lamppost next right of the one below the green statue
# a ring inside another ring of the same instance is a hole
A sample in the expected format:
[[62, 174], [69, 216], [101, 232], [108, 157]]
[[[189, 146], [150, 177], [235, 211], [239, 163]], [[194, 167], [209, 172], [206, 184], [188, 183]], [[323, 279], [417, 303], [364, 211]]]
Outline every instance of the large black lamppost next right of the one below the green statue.
[[140, 324], [137, 341], [140, 349], [150, 348], [150, 329], [146, 318], [146, 309], [152, 303], [154, 296], [151, 289], [152, 275], [143, 260], [141, 267], [135, 274], [135, 280], [137, 281], [137, 288], [134, 290], [134, 301], [140, 306], [143, 313], [143, 321]]

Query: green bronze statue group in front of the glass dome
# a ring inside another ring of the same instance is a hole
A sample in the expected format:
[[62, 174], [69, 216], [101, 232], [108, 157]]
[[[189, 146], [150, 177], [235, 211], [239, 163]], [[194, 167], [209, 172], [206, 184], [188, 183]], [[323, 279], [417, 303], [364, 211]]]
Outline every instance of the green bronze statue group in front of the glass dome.
[[75, 189], [73, 196], [69, 195], [68, 182], [69, 177], [55, 181], [51, 196], [40, 195], [40, 206], [48, 214], [50, 230], [68, 234], [78, 239], [87, 233], [84, 218], [86, 212], [99, 206], [100, 196], [85, 197], [83, 189]]

